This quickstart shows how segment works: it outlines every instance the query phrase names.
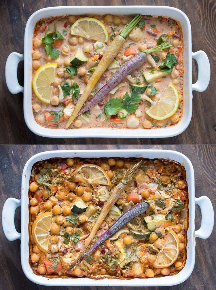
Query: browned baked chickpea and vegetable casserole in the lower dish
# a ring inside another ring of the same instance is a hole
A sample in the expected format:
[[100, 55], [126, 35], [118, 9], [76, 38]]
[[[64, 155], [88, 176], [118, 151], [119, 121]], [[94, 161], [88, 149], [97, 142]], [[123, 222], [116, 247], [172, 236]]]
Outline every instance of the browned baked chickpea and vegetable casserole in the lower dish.
[[188, 218], [178, 162], [39, 161], [29, 181], [29, 263], [50, 278], [174, 275], [187, 258]]

